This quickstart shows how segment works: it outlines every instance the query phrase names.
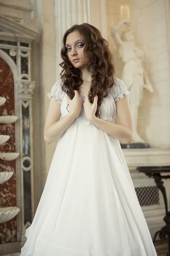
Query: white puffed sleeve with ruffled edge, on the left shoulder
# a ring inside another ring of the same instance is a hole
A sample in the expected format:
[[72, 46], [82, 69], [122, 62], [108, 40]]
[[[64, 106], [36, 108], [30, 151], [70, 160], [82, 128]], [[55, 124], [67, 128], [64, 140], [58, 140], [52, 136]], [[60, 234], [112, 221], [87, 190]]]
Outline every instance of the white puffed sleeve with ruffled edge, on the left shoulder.
[[62, 90], [61, 84], [62, 84], [62, 80], [57, 81], [51, 88], [51, 93], [47, 93], [49, 99], [51, 99], [52, 97], [53, 100], [57, 100], [57, 102], [59, 102], [60, 104], [62, 103], [62, 100], [64, 98], [64, 93], [65, 93]]

